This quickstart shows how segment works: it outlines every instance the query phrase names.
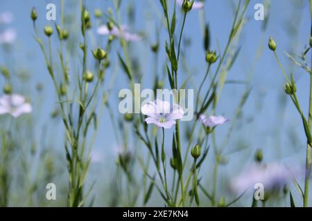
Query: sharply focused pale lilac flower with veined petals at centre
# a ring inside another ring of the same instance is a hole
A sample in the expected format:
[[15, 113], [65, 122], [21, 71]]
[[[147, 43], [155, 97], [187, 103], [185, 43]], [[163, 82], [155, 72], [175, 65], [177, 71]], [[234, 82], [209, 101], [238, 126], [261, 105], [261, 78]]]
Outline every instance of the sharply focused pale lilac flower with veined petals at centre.
[[148, 117], [145, 119], [147, 124], [156, 124], [158, 127], [165, 129], [171, 128], [176, 124], [176, 119], [181, 119], [184, 115], [182, 108], [169, 102], [157, 99], [155, 102], [148, 102], [142, 106], [141, 111]]

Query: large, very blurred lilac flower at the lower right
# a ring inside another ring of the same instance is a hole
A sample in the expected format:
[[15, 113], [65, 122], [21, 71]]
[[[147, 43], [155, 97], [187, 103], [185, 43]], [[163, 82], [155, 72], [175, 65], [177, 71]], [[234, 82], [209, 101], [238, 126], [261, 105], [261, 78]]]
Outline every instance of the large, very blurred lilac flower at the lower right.
[[270, 191], [284, 186], [298, 175], [302, 175], [299, 169], [288, 169], [282, 164], [252, 164], [232, 180], [231, 189], [236, 193], [242, 193], [247, 189], [254, 189], [254, 184], [260, 183], [264, 189]]

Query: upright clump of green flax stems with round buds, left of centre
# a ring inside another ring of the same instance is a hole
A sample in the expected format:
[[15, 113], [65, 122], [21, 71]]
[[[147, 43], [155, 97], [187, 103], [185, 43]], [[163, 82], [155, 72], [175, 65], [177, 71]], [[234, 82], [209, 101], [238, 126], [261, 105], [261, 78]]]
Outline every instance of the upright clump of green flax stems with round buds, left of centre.
[[[44, 34], [48, 40], [48, 45], [40, 38], [40, 32], [37, 30], [35, 13], [31, 12], [31, 19], [35, 28], [35, 40], [40, 46], [46, 68], [53, 81], [55, 92], [58, 97], [58, 105], [65, 131], [64, 150], [67, 159], [67, 169], [69, 178], [68, 206], [83, 206], [85, 199], [91, 188], [85, 191], [85, 179], [90, 163], [90, 153], [94, 137], [88, 138], [89, 131], [94, 133], [98, 124], [98, 94], [105, 77], [105, 64], [108, 55], [103, 48], [89, 48], [89, 40], [87, 34], [89, 28], [92, 27], [92, 19], [89, 11], [83, 3], [80, 4], [80, 32], [81, 40], [79, 47], [82, 52], [81, 70], [69, 70], [68, 64], [73, 59], [65, 56], [65, 48], [67, 42], [71, 39], [71, 31], [66, 28], [64, 23], [64, 13], [62, 13], [62, 23], [44, 27]], [[52, 38], [58, 38], [59, 48], [57, 52], [53, 50]], [[78, 47], [78, 45], [76, 45]], [[107, 43], [110, 48], [110, 41]], [[92, 59], [90, 59], [93, 55]], [[56, 65], [59, 61], [60, 66]], [[68, 59], [68, 60], [67, 60]], [[89, 61], [90, 59], [90, 61]], [[94, 63], [96, 74], [88, 67], [90, 63]], [[60, 67], [60, 71], [58, 71]], [[87, 145], [91, 144], [91, 145]]]

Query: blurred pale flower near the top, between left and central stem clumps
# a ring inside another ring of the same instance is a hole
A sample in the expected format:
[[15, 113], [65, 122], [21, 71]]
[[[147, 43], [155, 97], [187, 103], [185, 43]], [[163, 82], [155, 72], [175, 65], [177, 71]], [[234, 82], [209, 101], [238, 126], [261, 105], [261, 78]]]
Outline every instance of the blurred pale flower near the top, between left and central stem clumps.
[[98, 35], [114, 35], [115, 37], [123, 37], [125, 41], [140, 41], [142, 37], [137, 34], [129, 32], [127, 26], [120, 26], [120, 28], [113, 26], [110, 30], [106, 25], [98, 27]]

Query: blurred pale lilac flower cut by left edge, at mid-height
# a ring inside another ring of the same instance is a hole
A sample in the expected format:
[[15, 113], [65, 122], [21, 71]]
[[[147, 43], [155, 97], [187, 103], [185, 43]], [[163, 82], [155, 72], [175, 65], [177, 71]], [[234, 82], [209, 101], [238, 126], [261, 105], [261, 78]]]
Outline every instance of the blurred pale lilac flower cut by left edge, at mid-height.
[[21, 95], [3, 95], [0, 97], [0, 115], [10, 114], [19, 117], [25, 113], [31, 113], [31, 104], [25, 101]]

